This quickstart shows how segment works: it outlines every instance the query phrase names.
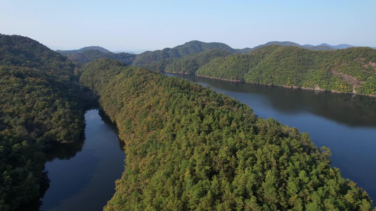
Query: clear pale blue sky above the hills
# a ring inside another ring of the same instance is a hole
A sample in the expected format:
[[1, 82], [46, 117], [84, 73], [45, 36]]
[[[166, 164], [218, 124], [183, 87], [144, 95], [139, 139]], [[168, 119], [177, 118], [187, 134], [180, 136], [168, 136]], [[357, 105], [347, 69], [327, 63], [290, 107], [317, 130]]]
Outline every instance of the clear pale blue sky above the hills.
[[191, 40], [233, 48], [269, 41], [376, 47], [376, 0], [2, 0], [0, 33], [53, 50], [156, 50]]

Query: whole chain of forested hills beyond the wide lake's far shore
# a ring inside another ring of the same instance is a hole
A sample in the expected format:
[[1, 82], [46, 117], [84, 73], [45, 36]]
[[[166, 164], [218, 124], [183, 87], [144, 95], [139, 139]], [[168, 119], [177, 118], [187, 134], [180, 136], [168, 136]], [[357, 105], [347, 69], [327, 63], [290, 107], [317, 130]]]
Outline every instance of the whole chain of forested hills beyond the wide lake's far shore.
[[85, 50], [69, 54], [68, 59], [87, 63], [111, 58], [159, 72], [195, 73], [225, 80], [376, 95], [375, 55], [376, 50], [370, 47], [335, 50], [325, 44], [303, 46], [273, 41], [254, 48], [233, 49], [223, 43], [190, 41], [141, 54]]

